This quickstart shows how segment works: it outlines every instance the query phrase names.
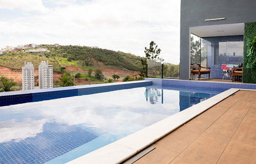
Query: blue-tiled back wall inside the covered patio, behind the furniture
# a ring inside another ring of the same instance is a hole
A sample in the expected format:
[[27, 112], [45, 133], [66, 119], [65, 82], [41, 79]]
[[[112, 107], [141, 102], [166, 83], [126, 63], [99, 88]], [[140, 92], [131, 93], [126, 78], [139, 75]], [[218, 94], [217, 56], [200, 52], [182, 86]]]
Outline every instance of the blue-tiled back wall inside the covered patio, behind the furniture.
[[244, 36], [202, 38], [207, 45], [207, 67], [211, 67], [210, 78], [222, 79], [222, 64], [243, 63]]

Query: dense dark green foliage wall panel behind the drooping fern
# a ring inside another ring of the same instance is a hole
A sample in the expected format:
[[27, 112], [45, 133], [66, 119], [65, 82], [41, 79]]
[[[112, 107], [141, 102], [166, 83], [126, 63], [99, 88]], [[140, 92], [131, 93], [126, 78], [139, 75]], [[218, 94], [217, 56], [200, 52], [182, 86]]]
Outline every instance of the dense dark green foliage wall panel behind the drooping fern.
[[246, 68], [249, 61], [248, 57], [248, 40], [256, 36], [256, 22], [245, 23], [244, 34], [244, 58], [243, 58], [243, 83], [256, 83], [256, 68]]

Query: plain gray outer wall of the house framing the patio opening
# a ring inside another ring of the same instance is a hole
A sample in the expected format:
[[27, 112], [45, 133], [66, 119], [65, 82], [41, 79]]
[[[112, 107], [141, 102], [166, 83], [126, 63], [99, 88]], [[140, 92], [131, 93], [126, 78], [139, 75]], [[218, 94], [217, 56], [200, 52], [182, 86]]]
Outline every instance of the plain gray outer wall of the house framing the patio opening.
[[[205, 21], [205, 19], [225, 18]], [[190, 27], [256, 21], [256, 0], [181, 0], [180, 80], [190, 78]]]

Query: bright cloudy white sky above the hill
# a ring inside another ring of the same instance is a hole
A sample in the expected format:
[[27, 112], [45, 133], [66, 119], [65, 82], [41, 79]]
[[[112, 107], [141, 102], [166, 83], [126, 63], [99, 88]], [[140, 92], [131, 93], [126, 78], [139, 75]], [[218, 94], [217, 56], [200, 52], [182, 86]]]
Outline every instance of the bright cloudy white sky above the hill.
[[0, 49], [6, 45], [86, 45], [145, 56], [155, 41], [179, 63], [180, 0], [0, 0]]

